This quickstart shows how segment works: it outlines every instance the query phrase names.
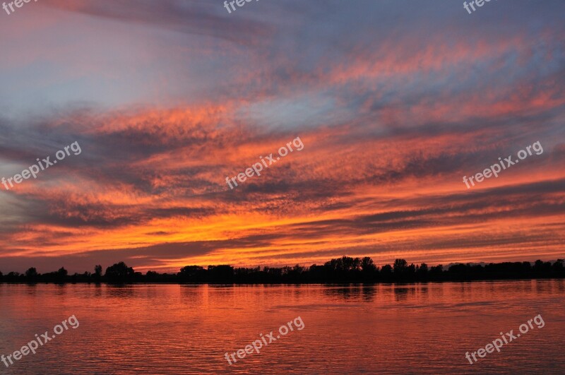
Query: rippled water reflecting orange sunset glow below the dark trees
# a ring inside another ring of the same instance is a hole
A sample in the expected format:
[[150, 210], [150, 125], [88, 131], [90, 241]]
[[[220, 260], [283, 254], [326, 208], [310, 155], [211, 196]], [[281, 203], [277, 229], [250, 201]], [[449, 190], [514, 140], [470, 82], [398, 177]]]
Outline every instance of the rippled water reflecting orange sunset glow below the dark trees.
[[[0, 354], [80, 325], [0, 374], [564, 374], [564, 280], [409, 285], [0, 285]], [[475, 364], [465, 352], [529, 328]], [[225, 352], [300, 317], [237, 363]], [[295, 325], [292, 325], [296, 327]], [[283, 330], [284, 331], [284, 330]], [[9, 362], [8, 362], [9, 364]]]

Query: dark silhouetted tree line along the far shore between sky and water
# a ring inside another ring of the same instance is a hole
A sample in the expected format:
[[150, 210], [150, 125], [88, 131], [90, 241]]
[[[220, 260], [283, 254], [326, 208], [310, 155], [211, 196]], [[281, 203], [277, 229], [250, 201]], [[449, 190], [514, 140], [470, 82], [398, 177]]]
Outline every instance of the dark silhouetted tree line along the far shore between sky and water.
[[145, 275], [119, 262], [106, 268], [95, 266], [94, 273], [75, 273], [69, 275], [65, 268], [57, 272], [37, 273], [30, 268], [25, 273], [0, 272], [0, 282], [19, 282], [35, 284], [52, 282], [88, 282], [108, 284], [140, 283], [212, 283], [212, 284], [295, 284], [295, 283], [342, 283], [342, 282], [427, 282], [427, 281], [464, 281], [464, 280], [503, 280], [564, 278], [564, 260], [554, 263], [541, 260], [530, 262], [503, 262], [481, 264], [454, 264], [448, 268], [439, 264], [428, 267], [426, 263], [408, 265], [404, 259], [396, 259], [393, 265], [378, 267], [368, 256], [351, 258], [343, 256], [327, 261], [323, 265], [310, 267], [256, 267], [234, 268], [228, 265], [186, 266], [179, 273], [157, 273], [149, 270]]

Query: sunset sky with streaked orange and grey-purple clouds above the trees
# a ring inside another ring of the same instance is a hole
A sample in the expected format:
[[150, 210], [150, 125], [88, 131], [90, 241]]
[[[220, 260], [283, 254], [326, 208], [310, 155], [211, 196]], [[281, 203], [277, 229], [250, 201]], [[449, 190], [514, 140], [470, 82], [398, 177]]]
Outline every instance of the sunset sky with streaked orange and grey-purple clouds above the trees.
[[[81, 148], [0, 185], [0, 271], [564, 258], [564, 11], [562, 0], [471, 14], [446, 0], [0, 9], [0, 177]], [[297, 138], [302, 150], [226, 184]], [[536, 142], [542, 153], [463, 182]]]

